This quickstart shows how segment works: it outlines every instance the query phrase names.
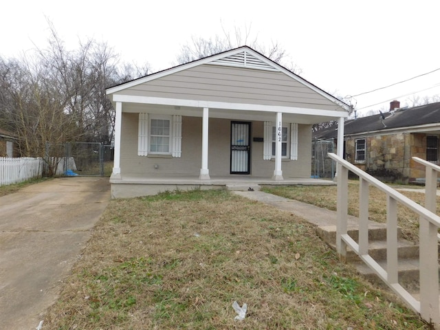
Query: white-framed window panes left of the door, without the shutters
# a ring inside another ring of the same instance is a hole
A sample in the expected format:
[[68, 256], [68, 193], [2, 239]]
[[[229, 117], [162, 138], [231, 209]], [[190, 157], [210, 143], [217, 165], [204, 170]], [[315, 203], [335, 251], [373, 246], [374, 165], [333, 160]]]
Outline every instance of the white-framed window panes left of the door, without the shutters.
[[168, 118], [151, 118], [150, 120], [150, 153], [170, 153], [171, 120]]

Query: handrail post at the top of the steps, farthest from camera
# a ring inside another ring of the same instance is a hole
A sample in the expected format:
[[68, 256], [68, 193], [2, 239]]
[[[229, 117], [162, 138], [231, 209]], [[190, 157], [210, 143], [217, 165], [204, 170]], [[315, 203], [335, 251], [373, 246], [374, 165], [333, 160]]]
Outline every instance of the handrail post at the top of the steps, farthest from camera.
[[337, 202], [337, 227], [336, 251], [342, 261], [347, 259], [347, 243], [342, 240], [342, 235], [347, 234], [347, 211], [349, 205], [349, 170], [338, 163], [338, 202]]

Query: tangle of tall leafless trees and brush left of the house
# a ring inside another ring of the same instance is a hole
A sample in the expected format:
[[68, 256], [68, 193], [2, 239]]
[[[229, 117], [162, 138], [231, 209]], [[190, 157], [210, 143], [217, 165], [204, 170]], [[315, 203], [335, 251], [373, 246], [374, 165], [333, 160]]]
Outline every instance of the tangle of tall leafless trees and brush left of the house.
[[92, 39], [67, 50], [48, 23], [47, 47], [0, 58], [0, 125], [19, 137], [23, 156], [44, 157], [47, 144], [111, 144], [114, 109], [105, 88], [146, 75], [149, 66], [121, 65], [107, 44]]

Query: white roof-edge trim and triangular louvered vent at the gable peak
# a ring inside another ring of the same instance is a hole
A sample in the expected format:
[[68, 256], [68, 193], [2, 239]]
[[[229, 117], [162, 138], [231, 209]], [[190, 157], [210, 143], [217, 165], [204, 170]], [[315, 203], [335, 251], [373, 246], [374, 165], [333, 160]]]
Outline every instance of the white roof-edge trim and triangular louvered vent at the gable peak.
[[113, 87], [109, 87], [108, 89], [106, 89], [106, 93], [107, 95], [113, 94], [118, 91], [128, 89], [130, 87], [147, 83], [148, 81], [155, 80], [157, 78], [162, 78], [164, 76], [175, 74], [176, 72], [181, 72], [185, 69], [190, 69], [192, 67], [196, 67], [198, 65], [204, 65], [204, 64], [223, 65], [230, 67], [245, 67], [248, 69], [260, 69], [260, 70], [272, 71], [272, 72], [282, 72], [287, 76], [289, 76], [290, 78], [293, 78], [299, 83], [302, 83], [303, 85], [314, 90], [316, 93], [320, 94], [324, 98], [327, 98], [331, 102], [338, 104], [340, 107], [342, 107], [342, 109], [345, 109], [347, 111], [349, 110], [348, 104], [342, 102], [338, 98], [332, 96], [331, 94], [320, 89], [319, 87], [316, 87], [316, 85], [309, 83], [309, 81], [305, 80], [304, 78], [301, 78], [297, 74], [294, 74], [293, 72], [289, 71], [282, 65], [279, 65], [278, 63], [270, 60], [270, 58], [267, 58], [263, 54], [256, 52], [256, 50], [253, 50], [248, 46], [242, 46], [235, 48], [233, 50], [221, 52], [219, 54], [214, 54], [212, 56], [201, 58], [199, 60], [192, 61], [190, 63], [177, 65], [176, 67], [171, 67], [170, 69], [165, 69], [160, 72], [156, 72], [154, 74], [149, 74], [147, 76], [131, 80], [127, 83], [115, 85]]

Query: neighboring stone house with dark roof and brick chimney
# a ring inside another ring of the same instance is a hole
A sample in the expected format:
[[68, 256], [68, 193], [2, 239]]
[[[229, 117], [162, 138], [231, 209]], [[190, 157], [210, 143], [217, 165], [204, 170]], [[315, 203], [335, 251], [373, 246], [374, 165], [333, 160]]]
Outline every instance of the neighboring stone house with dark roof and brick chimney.
[[[337, 126], [314, 133], [318, 139], [337, 138]], [[440, 102], [399, 108], [344, 123], [344, 158], [384, 181], [418, 183], [425, 168], [411, 157], [439, 162]]]

